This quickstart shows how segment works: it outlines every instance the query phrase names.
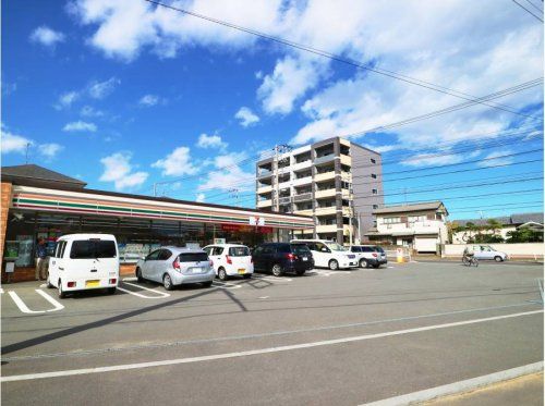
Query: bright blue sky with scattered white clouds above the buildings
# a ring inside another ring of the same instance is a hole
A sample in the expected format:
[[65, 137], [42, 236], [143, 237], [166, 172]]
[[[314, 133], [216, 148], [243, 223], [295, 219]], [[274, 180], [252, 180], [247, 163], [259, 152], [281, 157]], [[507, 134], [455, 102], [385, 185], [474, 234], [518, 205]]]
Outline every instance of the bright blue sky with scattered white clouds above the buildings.
[[[508, 1], [169, 3], [472, 96], [543, 76], [542, 25]], [[253, 207], [256, 157], [275, 144], [464, 101], [144, 0], [2, 5], [2, 165], [31, 144], [29, 162], [93, 188], [159, 182], [160, 195], [234, 204], [237, 187]], [[455, 219], [541, 211], [543, 84], [494, 102], [523, 115], [473, 106], [351, 139], [383, 152], [387, 204], [445, 199]]]

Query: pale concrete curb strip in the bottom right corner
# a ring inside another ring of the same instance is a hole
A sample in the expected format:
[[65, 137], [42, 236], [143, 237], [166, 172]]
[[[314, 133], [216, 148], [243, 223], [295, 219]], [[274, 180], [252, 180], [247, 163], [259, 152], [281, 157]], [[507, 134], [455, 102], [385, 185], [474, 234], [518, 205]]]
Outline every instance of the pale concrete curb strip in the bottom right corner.
[[488, 386], [494, 383], [508, 381], [510, 379], [520, 378], [526, 374], [541, 371], [543, 371], [543, 361], [529, 364], [522, 367], [507, 369], [505, 371], [499, 371], [487, 376], [472, 378], [464, 381], [449, 383], [446, 385], [436, 386], [424, 391], [408, 393], [405, 395], [395, 396], [383, 401], [366, 403], [362, 406], [413, 405], [421, 402], [433, 401], [440, 396], [448, 396], [448, 395], [455, 395], [474, 391], [476, 389]]

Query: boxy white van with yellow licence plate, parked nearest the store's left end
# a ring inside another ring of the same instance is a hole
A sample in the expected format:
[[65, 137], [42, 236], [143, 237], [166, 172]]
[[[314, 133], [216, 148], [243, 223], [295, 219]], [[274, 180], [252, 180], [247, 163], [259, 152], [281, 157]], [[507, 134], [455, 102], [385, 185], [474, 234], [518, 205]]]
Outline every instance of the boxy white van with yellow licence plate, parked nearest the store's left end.
[[116, 293], [119, 283], [119, 253], [111, 234], [68, 234], [57, 241], [49, 258], [48, 287], [59, 297], [68, 292], [106, 288]]

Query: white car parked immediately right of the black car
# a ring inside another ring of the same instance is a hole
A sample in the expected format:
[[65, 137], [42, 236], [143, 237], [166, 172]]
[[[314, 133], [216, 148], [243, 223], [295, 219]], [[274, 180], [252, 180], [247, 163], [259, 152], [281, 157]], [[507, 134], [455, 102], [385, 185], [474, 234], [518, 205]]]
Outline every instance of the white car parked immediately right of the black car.
[[291, 244], [304, 244], [312, 251], [314, 266], [331, 270], [358, 267], [355, 254], [329, 239], [292, 239]]

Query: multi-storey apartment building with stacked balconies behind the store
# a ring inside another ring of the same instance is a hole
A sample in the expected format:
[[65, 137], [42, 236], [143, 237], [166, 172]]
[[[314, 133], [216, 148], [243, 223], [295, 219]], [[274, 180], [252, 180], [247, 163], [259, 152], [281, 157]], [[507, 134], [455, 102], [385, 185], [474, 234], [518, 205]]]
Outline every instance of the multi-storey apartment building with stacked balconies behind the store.
[[298, 238], [359, 242], [384, 205], [380, 153], [340, 137], [258, 161], [256, 180], [258, 209], [314, 218]]

